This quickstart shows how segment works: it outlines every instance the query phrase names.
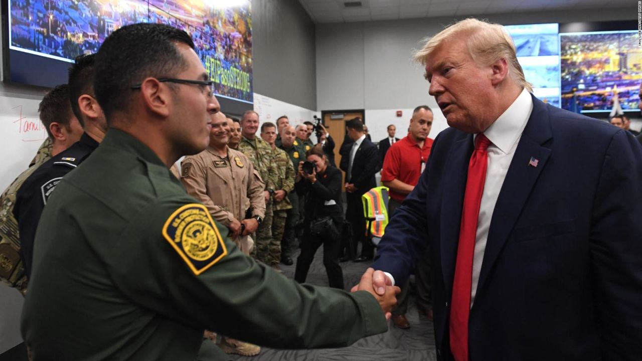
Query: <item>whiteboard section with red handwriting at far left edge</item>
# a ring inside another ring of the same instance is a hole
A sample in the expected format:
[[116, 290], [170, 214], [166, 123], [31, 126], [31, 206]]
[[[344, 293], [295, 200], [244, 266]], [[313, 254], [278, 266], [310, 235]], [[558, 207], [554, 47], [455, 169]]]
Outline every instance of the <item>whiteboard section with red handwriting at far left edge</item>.
[[48, 89], [0, 85], [0, 191], [29, 166], [47, 131], [38, 105]]

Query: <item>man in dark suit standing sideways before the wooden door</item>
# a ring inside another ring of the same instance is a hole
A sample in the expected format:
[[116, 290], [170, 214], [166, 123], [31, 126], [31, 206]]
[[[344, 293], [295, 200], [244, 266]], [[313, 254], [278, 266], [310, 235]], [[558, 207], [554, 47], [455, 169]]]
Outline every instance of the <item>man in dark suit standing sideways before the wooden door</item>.
[[365, 137], [360, 118], [345, 122], [345, 127], [348, 136], [353, 141], [351, 148], [345, 150], [340, 164], [341, 169], [345, 172], [345, 198], [348, 203], [345, 218], [352, 224], [355, 242], [361, 242], [361, 255], [354, 261], [363, 262], [372, 260], [374, 247], [364, 235], [365, 217], [363, 216], [361, 195], [377, 186], [374, 174], [377, 173], [379, 157], [377, 157], [377, 146]]

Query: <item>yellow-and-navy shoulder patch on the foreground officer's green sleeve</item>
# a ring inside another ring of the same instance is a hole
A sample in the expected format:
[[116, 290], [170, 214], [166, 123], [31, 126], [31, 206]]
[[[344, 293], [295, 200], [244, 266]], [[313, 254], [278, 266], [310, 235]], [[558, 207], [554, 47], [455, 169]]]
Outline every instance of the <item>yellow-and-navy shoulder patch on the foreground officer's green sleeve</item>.
[[202, 204], [186, 204], [169, 216], [162, 234], [196, 276], [227, 255], [223, 238]]

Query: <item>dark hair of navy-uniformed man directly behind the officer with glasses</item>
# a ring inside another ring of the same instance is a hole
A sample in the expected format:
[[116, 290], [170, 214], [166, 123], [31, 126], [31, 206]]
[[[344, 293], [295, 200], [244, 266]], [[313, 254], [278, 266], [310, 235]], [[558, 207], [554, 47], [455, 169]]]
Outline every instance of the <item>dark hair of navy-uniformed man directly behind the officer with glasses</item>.
[[85, 119], [78, 106], [78, 98], [83, 94], [94, 97], [94, 63], [96, 62], [95, 54], [81, 54], [74, 59], [74, 65], [69, 67], [69, 101], [71, 110], [85, 127]]

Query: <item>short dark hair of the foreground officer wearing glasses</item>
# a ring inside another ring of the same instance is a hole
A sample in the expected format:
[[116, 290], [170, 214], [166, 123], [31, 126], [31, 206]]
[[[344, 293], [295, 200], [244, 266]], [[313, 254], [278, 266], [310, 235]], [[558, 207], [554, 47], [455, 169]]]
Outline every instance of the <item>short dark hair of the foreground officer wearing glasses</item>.
[[132, 85], [150, 76], [171, 78], [186, 69], [177, 42], [194, 49], [185, 31], [164, 24], [123, 26], [105, 39], [96, 55], [94, 91], [108, 123], [114, 112], [128, 109]]

